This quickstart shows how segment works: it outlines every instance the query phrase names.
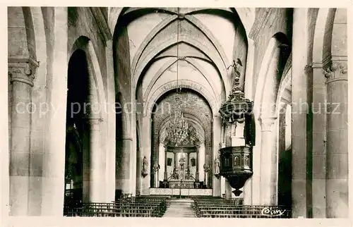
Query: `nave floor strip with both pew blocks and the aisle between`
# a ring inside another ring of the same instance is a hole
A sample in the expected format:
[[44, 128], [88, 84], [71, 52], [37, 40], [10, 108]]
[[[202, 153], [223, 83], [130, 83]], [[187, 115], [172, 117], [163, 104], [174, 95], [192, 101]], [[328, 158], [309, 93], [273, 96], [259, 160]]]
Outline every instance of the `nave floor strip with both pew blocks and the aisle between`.
[[249, 206], [241, 200], [221, 197], [170, 197], [124, 195], [110, 203], [83, 203], [75, 208], [65, 207], [64, 216], [97, 217], [180, 217], [180, 218], [251, 218], [287, 219], [290, 207]]

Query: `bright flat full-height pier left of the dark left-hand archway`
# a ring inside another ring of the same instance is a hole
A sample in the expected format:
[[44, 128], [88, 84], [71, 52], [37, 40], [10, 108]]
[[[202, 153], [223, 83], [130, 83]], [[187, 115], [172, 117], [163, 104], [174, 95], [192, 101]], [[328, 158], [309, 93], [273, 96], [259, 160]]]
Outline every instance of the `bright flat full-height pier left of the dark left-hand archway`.
[[42, 216], [62, 216], [65, 185], [66, 96], [68, 73], [67, 7], [53, 7], [54, 43], [47, 72], [50, 111], [45, 126], [43, 159]]

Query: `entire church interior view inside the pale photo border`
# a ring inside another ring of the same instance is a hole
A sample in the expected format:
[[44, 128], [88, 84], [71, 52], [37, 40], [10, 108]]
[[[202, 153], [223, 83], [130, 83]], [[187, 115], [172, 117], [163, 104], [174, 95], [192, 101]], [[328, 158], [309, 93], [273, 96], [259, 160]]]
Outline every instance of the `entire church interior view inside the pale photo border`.
[[11, 216], [347, 218], [345, 8], [8, 7]]

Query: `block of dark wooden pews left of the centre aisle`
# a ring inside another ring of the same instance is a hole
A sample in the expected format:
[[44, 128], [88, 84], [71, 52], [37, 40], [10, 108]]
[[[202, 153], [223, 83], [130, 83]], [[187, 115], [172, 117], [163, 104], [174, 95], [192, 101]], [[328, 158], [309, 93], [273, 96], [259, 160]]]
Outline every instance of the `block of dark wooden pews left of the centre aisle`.
[[79, 207], [64, 207], [64, 216], [162, 217], [167, 209], [167, 198], [138, 196], [122, 197], [109, 203], [83, 203]]

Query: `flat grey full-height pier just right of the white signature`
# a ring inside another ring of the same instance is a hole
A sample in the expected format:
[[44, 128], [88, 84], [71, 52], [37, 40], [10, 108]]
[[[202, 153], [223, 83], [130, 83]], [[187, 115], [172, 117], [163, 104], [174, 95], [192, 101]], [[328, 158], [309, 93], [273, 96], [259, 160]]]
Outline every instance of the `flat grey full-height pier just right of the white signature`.
[[[294, 8], [292, 38], [292, 217], [308, 217], [306, 109], [308, 8]], [[311, 193], [310, 193], [311, 194]]]

